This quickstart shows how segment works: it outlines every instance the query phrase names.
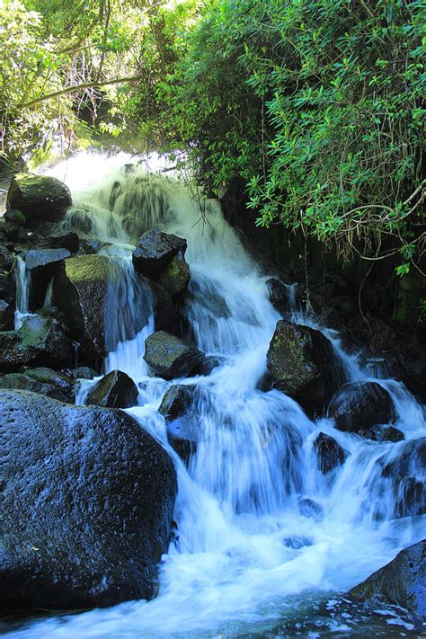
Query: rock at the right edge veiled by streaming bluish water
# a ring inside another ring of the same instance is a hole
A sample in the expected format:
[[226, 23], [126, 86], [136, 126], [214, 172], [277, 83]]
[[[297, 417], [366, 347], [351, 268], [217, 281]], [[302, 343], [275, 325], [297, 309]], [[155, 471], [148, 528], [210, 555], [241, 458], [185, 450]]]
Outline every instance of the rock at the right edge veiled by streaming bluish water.
[[381, 460], [381, 476], [391, 483], [394, 517], [417, 517], [426, 513], [426, 437], [410, 439], [392, 448]]

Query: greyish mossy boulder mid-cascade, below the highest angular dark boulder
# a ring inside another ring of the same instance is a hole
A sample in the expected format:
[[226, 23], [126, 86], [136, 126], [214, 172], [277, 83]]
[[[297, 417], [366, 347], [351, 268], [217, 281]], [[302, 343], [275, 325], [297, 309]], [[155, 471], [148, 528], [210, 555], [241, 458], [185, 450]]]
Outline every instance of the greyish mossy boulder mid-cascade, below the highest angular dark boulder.
[[147, 364], [164, 379], [195, 374], [204, 360], [204, 353], [164, 331], [149, 335], [145, 349]]

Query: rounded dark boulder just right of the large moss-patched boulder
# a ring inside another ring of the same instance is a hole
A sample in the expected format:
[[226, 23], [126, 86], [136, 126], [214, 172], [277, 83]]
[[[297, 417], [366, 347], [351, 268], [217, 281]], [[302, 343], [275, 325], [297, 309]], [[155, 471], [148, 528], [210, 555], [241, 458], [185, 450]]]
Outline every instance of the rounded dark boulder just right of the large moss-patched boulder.
[[339, 430], [368, 437], [368, 431], [379, 424], [395, 421], [395, 408], [389, 393], [377, 382], [346, 384], [329, 407]]

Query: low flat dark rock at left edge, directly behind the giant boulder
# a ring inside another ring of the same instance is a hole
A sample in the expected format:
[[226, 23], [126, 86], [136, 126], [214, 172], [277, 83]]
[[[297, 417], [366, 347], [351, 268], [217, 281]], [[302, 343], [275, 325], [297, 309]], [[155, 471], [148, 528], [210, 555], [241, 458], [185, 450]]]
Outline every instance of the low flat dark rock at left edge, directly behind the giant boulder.
[[28, 368], [25, 373], [9, 373], [0, 377], [0, 388], [28, 390], [61, 402], [74, 402], [74, 380], [51, 368]]

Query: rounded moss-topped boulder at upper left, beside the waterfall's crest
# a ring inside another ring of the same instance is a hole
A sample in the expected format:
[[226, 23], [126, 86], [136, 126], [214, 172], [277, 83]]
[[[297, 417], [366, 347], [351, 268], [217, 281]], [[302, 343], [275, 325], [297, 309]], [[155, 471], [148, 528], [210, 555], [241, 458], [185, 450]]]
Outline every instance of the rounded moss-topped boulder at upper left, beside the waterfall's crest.
[[28, 226], [44, 220], [58, 221], [71, 203], [63, 182], [34, 173], [16, 173], [7, 194], [8, 207], [22, 211]]

